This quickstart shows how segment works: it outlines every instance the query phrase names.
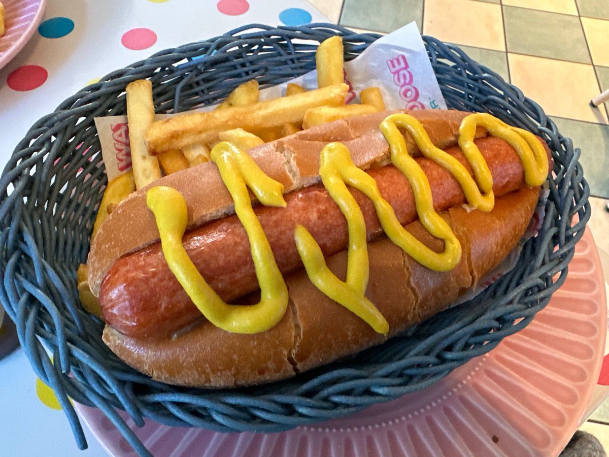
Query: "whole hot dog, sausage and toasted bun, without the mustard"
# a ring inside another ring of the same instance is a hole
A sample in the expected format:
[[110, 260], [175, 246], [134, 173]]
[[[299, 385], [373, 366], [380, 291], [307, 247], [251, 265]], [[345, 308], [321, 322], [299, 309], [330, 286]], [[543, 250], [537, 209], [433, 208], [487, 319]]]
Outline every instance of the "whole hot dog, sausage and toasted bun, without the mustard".
[[[459, 147], [453, 146], [459, 136], [459, 123], [469, 113], [420, 113], [418, 118], [432, 143], [446, 149], [471, 174], [468, 160]], [[207, 387], [260, 383], [289, 377], [378, 344], [437, 313], [465, 289], [475, 286], [477, 279], [499, 263], [522, 236], [538, 194], [537, 188], [526, 185], [515, 149], [505, 140], [484, 138], [484, 129], [476, 129], [479, 139], [475, 143], [488, 163], [498, 197], [490, 212], [461, 208], [466, 203], [465, 194], [452, 175], [433, 160], [417, 159], [429, 180], [435, 210], [443, 211], [442, 218], [463, 247], [459, 263], [448, 272], [431, 271], [404, 255], [382, 234], [370, 200], [351, 190], [364, 215], [370, 241], [366, 296], [389, 323], [385, 335], [334, 303], [311, 284], [306, 272], [298, 271], [302, 264], [291, 236], [297, 224], [308, 228], [320, 244], [331, 270], [345, 269], [347, 223], [325, 188], [315, 183], [319, 152], [330, 141], [347, 144], [356, 165], [369, 168], [368, 175], [375, 179], [400, 224], [407, 225], [407, 230], [424, 244], [443, 249], [444, 243], [416, 221], [409, 181], [387, 165], [389, 144], [376, 126], [388, 114], [333, 122], [249, 151], [258, 158], [262, 171], [279, 182], [283, 180], [284, 188], [290, 191], [285, 196], [286, 208], [256, 207], [256, 216], [286, 278], [290, 302], [277, 325], [255, 335], [230, 333], [202, 319], [164, 262], [156, 243], [154, 216], [145, 205], [147, 189], [122, 202], [100, 228], [89, 257], [91, 289], [99, 291], [108, 324], [106, 344], [128, 364], [158, 380]], [[402, 133], [409, 151], [415, 151], [410, 134]], [[269, 156], [273, 159], [267, 160]], [[282, 169], [286, 163], [287, 171]], [[247, 235], [238, 219], [229, 214], [230, 196], [222, 193], [213, 164], [204, 165], [160, 182], [177, 188], [189, 206], [191, 231], [183, 240], [189, 257], [222, 299], [233, 300], [255, 292], [258, 280]], [[194, 189], [193, 180], [202, 182], [202, 189]], [[209, 196], [203, 203], [199, 201], [201, 194]], [[131, 225], [128, 232], [136, 236], [108, 243], [113, 227], [125, 225]], [[134, 230], [135, 226], [141, 228]], [[485, 233], [479, 227], [485, 227]], [[344, 272], [341, 274], [344, 277]], [[185, 327], [187, 330], [181, 330]], [[172, 335], [174, 332], [177, 336]]]

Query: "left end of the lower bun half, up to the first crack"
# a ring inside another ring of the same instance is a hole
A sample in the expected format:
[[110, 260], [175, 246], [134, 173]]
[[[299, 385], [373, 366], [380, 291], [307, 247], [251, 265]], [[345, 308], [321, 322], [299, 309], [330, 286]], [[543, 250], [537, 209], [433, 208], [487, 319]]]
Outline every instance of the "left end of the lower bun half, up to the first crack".
[[205, 321], [174, 338], [146, 344], [108, 326], [103, 338], [119, 358], [155, 380], [218, 388], [293, 376], [294, 328], [288, 308], [275, 327], [253, 335], [228, 333]]

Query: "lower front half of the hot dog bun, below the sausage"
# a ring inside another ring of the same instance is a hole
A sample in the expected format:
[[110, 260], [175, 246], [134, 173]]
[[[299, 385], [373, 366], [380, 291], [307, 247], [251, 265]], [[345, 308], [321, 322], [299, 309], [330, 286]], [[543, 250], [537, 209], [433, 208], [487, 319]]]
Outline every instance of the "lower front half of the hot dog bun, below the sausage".
[[[288, 378], [382, 343], [444, 310], [515, 246], [537, 199], [538, 188], [521, 188], [499, 197], [490, 213], [461, 207], [443, 212], [463, 247], [459, 265], [449, 272], [421, 266], [385, 238], [368, 244], [366, 296], [389, 322], [387, 336], [324, 296], [301, 271], [286, 277], [290, 306], [268, 331], [237, 335], [203, 322], [175, 338], [150, 341], [107, 326], [104, 342], [125, 363], [172, 384], [227, 388]], [[443, 248], [420, 222], [407, 225], [407, 230], [432, 249]], [[339, 277], [344, 278], [345, 265], [345, 252], [328, 259]]]

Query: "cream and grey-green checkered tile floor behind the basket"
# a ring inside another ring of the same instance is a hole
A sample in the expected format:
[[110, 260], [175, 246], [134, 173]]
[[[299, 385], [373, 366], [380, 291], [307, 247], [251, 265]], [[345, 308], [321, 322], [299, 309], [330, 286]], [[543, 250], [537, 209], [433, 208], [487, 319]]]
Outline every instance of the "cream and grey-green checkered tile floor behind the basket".
[[[609, 283], [609, 118], [590, 99], [609, 88], [609, 0], [309, 0], [332, 21], [388, 33], [419, 30], [458, 44], [537, 101], [582, 151], [590, 227]], [[609, 453], [609, 400], [586, 422]]]

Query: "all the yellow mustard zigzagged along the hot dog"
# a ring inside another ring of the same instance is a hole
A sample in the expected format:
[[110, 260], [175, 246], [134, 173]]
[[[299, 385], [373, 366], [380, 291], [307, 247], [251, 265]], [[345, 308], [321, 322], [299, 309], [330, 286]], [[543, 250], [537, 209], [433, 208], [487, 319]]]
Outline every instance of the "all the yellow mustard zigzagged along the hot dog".
[[[349, 232], [347, 280], [342, 282], [326, 266], [323, 253], [311, 234], [302, 226], [295, 230], [297, 249], [311, 282], [331, 299], [361, 317], [378, 333], [387, 333], [389, 325], [364, 292], [368, 283], [368, 251], [364, 216], [347, 185], [362, 191], [375, 205], [379, 221], [393, 243], [419, 263], [435, 271], [449, 271], [461, 257], [461, 246], [449, 225], [433, 207], [431, 188], [426, 175], [410, 157], [398, 127], [408, 130], [421, 153], [436, 161], [457, 179], [468, 204], [482, 211], [493, 208], [493, 179], [481, 152], [474, 144], [476, 127], [507, 141], [523, 162], [525, 181], [538, 186], [547, 177], [547, 156], [540, 142], [526, 130], [507, 126], [493, 116], [476, 113], [466, 116], [459, 129], [459, 145], [470, 162], [474, 177], [454, 157], [435, 147], [420, 122], [403, 113], [390, 115], [381, 123], [381, 131], [390, 145], [391, 161], [412, 186], [420, 221], [429, 232], [445, 241], [445, 250], [436, 253], [421, 244], [401, 226], [393, 208], [382, 199], [376, 182], [353, 165], [347, 147], [330, 143], [320, 157], [323, 185], [347, 218]], [[247, 154], [233, 144], [214, 146], [211, 158], [216, 162], [222, 180], [235, 202], [235, 213], [244, 225], [261, 288], [256, 305], [228, 305], [209, 287], [188, 258], [181, 238], [188, 222], [186, 203], [178, 191], [167, 186], [151, 188], [147, 205], [155, 214], [161, 238], [161, 249], [172, 273], [202, 314], [217, 327], [234, 333], [258, 333], [276, 325], [287, 308], [287, 287], [276, 266], [269, 242], [252, 209], [247, 187], [264, 205], [285, 207], [283, 186], [262, 172]]]

